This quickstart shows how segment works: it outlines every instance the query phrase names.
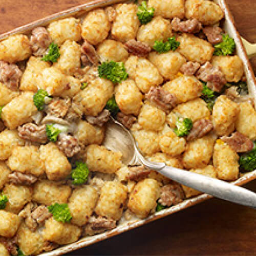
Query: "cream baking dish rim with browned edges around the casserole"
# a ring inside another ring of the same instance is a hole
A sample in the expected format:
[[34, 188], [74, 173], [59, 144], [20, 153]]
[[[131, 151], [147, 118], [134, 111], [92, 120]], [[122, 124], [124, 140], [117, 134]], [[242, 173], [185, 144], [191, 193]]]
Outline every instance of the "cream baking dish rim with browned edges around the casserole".
[[[61, 18], [68, 17], [68, 16], [81, 17], [84, 13], [86, 13], [94, 8], [105, 7], [105, 6], [108, 6], [108, 5], [111, 5], [114, 3], [120, 3], [120, 2], [126, 2], [126, 1], [123, 1], [123, 0], [94, 0], [94, 1], [90, 1], [86, 4], [74, 7], [72, 9], [69, 9], [66, 11], [56, 13], [54, 15], [51, 15], [51, 16], [48, 16], [48, 17], [45, 17], [42, 19], [39, 19], [36, 22], [30, 23], [28, 25], [25, 25], [25, 26], [16, 28], [12, 31], [9, 31], [7, 33], [4, 33], [4, 34], [0, 35], [0, 41], [9, 35], [13, 35], [13, 34], [17, 34], [17, 33], [29, 34], [33, 28], [36, 28], [38, 26], [46, 26], [49, 23], [51, 23], [53, 20], [61, 19]], [[224, 29], [231, 37], [234, 38], [234, 40], [236, 42], [237, 54], [239, 55], [239, 57], [242, 59], [242, 61], [244, 63], [245, 75], [246, 75], [246, 79], [247, 79], [248, 88], [249, 88], [250, 94], [252, 95], [252, 97], [254, 99], [254, 105], [256, 105], [256, 81], [255, 81], [254, 74], [253, 74], [249, 59], [247, 57], [245, 48], [243, 46], [241, 37], [240, 37], [236, 27], [234, 26], [233, 17], [227, 7], [227, 4], [225, 3], [225, 0], [214, 0], [214, 2], [218, 3], [225, 12]], [[234, 182], [234, 184], [243, 185], [243, 184], [248, 183], [254, 179], [256, 179], [256, 170], [254, 170], [253, 172], [250, 172], [250, 173], [243, 174], [237, 181]], [[77, 250], [82, 247], [86, 247], [93, 243], [97, 243], [104, 239], [108, 239], [113, 236], [116, 236], [117, 234], [120, 234], [127, 230], [131, 230], [133, 228], [142, 226], [142, 225], [152, 222], [154, 220], [163, 218], [167, 215], [174, 214], [177, 211], [183, 210], [189, 206], [198, 204], [198, 203], [203, 202], [204, 200], [210, 199], [210, 198], [212, 198], [212, 197], [209, 195], [203, 194], [203, 195], [200, 195], [195, 198], [187, 199], [178, 205], [175, 205], [168, 209], [156, 212], [154, 215], [151, 215], [150, 217], [148, 217], [146, 219], [126, 222], [122, 225], [117, 226], [115, 229], [113, 229], [111, 231], [100, 233], [93, 237], [87, 237], [87, 238], [80, 239], [76, 243], [62, 246], [62, 247], [57, 248], [56, 250], [53, 250], [51, 252], [42, 253], [40, 255], [44, 255], [44, 256], [61, 255], [64, 253], [68, 253], [68, 252]]]

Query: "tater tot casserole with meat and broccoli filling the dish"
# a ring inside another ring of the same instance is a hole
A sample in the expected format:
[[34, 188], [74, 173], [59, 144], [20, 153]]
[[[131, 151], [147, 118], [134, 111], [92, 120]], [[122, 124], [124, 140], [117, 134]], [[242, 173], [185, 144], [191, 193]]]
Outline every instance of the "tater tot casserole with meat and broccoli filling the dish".
[[1, 255], [201, 194], [124, 165], [102, 145], [111, 115], [151, 161], [225, 181], [256, 168], [256, 112], [223, 17], [208, 0], [136, 1], [0, 42]]

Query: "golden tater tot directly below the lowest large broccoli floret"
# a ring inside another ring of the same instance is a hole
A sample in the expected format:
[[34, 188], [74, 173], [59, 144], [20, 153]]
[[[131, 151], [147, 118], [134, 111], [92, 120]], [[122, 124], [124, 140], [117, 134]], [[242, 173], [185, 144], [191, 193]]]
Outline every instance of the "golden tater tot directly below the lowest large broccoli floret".
[[70, 223], [62, 223], [50, 218], [46, 221], [46, 228], [42, 230], [42, 237], [53, 243], [64, 245], [72, 244], [81, 235], [81, 228]]

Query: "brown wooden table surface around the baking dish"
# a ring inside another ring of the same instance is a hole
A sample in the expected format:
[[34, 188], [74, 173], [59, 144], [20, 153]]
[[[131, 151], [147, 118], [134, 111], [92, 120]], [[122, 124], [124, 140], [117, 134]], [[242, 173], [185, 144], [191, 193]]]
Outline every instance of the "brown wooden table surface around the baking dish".
[[[256, 42], [256, 1], [226, 1], [240, 34]], [[84, 2], [0, 0], [0, 34]], [[245, 187], [256, 191], [256, 181]], [[211, 199], [67, 255], [256, 255], [255, 218], [253, 209]]]

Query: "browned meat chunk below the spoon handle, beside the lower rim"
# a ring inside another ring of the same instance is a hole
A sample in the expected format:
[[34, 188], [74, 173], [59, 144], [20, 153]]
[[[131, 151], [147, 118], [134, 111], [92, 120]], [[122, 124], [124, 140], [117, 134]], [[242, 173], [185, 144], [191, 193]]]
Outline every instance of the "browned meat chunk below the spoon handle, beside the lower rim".
[[159, 203], [162, 205], [179, 204], [184, 199], [184, 193], [181, 186], [177, 183], [167, 184], [161, 187]]

